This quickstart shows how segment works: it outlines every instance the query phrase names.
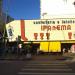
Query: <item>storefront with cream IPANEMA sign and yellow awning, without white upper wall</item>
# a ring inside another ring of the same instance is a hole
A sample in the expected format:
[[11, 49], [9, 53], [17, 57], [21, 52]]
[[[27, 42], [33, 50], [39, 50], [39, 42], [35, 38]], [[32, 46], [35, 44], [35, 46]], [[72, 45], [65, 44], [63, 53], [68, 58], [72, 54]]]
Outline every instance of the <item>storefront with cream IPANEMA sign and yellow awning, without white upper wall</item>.
[[33, 41], [43, 52], [75, 50], [75, 18], [15, 20], [6, 25], [9, 42]]

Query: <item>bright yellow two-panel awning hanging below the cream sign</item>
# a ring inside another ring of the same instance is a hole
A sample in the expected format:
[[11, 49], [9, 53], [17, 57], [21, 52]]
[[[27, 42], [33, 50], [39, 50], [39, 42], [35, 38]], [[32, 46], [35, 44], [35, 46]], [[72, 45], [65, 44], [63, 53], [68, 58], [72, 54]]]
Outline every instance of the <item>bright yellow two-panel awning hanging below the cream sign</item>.
[[44, 52], [61, 52], [60, 42], [40, 42], [40, 50]]

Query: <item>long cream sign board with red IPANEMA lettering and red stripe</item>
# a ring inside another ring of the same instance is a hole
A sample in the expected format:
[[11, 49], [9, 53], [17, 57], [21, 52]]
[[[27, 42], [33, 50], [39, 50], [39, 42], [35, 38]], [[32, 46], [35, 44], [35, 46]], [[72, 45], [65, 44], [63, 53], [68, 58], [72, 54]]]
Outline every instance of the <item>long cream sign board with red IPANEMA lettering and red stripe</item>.
[[8, 38], [16, 41], [75, 40], [75, 18], [15, 20], [6, 25]]

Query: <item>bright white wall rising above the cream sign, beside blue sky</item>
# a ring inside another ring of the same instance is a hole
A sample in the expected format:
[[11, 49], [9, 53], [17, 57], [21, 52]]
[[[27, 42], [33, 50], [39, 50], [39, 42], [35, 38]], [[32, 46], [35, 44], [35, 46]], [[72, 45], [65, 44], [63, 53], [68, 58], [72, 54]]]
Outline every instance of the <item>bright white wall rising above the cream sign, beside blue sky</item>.
[[[40, 0], [40, 11], [42, 18], [75, 17], [75, 0]], [[42, 16], [43, 13], [47, 13]], [[50, 17], [49, 17], [50, 16]]]

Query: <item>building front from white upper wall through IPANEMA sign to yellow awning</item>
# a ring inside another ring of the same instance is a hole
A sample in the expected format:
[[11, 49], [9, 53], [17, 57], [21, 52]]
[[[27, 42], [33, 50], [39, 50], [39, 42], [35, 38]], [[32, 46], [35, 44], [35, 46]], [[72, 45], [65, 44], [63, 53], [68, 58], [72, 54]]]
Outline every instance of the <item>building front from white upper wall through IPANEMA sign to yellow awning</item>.
[[39, 20], [14, 20], [6, 25], [9, 42], [21, 36], [43, 52], [75, 53], [74, 0], [40, 0]]

